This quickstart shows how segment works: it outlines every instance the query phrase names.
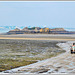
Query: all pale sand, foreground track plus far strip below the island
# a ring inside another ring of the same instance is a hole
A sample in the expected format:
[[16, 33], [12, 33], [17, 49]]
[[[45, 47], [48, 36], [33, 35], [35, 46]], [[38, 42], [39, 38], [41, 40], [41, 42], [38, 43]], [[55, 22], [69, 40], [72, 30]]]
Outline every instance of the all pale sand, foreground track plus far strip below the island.
[[[32, 34], [33, 35], [33, 34]], [[7, 70], [1, 73], [25, 73], [25, 74], [48, 74], [48, 73], [75, 73], [75, 54], [70, 53], [70, 46], [75, 42], [75, 35], [48, 35], [43, 34], [37, 37], [31, 35], [1, 35], [0, 39], [20, 40], [51, 40], [66, 41], [58, 42], [57, 46], [66, 52], [36, 63]], [[43, 36], [43, 37], [42, 37]]]

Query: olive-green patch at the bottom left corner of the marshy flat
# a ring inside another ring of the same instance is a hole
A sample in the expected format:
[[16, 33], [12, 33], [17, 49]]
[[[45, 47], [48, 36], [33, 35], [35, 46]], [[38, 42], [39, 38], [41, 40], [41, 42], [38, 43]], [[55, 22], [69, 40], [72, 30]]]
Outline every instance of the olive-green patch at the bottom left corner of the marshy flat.
[[20, 66], [29, 65], [35, 62], [36, 61], [0, 59], [0, 72]]

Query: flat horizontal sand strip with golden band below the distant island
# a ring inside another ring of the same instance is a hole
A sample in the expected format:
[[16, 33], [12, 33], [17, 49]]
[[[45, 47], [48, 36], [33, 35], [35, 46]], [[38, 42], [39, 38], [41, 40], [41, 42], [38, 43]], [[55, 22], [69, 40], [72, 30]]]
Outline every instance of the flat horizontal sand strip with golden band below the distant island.
[[0, 35], [0, 39], [19, 39], [19, 40], [59, 40], [75, 41], [74, 34], [18, 34], [18, 35]]

